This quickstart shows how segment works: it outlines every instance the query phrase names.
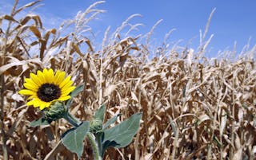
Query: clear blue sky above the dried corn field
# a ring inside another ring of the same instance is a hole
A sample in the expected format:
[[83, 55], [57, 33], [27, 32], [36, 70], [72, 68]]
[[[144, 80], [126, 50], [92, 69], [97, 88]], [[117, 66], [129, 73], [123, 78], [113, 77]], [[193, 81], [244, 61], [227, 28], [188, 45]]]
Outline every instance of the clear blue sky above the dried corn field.
[[[29, 0], [20, 0], [22, 6]], [[58, 27], [65, 19], [74, 18], [79, 10], [86, 10], [95, 0], [44, 0], [36, 12], [42, 16], [46, 27]], [[1, 0], [0, 14], [10, 9], [13, 1]], [[141, 14], [131, 23], [142, 23], [138, 33], [147, 33], [160, 19], [163, 21], [154, 30], [152, 44], [160, 43], [170, 29], [176, 29], [169, 41], [182, 40], [182, 45], [196, 49], [199, 45], [199, 30], [205, 29], [211, 11], [216, 8], [210, 22], [207, 37], [214, 34], [206, 56], [215, 57], [219, 50], [233, 50], [237, 41], [238, 53], [250, 38], [250, 47], [256, 44], [256, 1], [254, 0], [106, 0], [100, 4], [106, 13], [98, 16], [90, 25], [98, 37], [110, 25], [116, 29], [132, 14]], [[191, 41], [190, 41], [191, 40]]]

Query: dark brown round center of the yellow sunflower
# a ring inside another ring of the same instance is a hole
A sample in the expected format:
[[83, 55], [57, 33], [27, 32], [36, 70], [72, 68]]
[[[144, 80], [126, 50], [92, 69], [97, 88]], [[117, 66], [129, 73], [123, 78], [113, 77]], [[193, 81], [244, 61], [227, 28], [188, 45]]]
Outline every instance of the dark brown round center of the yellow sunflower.
[[38, 98], [45, 102], [57, 100], [61, 96], [61, 89], [55, 84], [42, 84], [38, 88]]

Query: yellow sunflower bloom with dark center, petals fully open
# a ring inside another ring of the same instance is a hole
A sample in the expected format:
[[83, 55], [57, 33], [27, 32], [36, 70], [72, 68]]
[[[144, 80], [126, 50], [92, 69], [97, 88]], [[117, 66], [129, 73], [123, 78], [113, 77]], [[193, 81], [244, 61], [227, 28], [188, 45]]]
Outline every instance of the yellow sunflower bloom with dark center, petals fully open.
[[43, 69], [37, 75], [30, 73], [30, 78], [25, 79], [24, 87], [18, 93], [30, 96], [26, 105], [40, 107], [40, 110], [50, 107], [55, 101], [65, 101], [70, 99], [70, 92], [74, 90], [71, 76], [66, 76], [66, 72], [58, 70], [55, 74], [53, 69]]

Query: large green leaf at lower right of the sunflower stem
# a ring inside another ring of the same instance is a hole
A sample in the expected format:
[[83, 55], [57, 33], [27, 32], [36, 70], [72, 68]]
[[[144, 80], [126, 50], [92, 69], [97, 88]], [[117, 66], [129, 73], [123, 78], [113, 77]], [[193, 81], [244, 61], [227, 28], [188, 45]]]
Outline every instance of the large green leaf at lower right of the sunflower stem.
[[120, 148], [129, 145], [138, 131], [140, 119], [142, 113], [136, 113], [115, 127], [103, 131], [103, 153], [110, 146]]

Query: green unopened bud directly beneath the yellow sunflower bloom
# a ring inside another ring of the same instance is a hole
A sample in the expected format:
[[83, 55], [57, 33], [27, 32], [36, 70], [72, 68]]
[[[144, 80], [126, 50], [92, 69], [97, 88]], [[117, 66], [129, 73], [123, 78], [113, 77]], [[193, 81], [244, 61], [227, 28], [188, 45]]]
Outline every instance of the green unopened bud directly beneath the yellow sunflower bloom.
[[46, 119], [51, 121], [61, 119], [66, 114], [66, 107], [64, 103], [56, 101], [50, 105], [49, 108], [45, 108], [44, 113], [46, 115]]

